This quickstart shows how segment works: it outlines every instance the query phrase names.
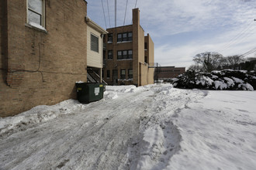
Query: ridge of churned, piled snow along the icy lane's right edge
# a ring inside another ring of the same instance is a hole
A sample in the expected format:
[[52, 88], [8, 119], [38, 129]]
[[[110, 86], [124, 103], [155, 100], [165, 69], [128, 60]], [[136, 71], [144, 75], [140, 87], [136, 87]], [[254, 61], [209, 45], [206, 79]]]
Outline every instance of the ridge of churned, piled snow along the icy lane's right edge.
[[[139, 161], [133, 162], [131, 169], [164, 169], [171, 162], [171, 157], [180, 150], [182, 136], [172, 122], [174, 117], [188, 104], [205, 97], [207, 93], [199, 90], [163, 89], [155, 93], [155, 103], [147, 124], [142, 124], [144, 138], [140, 139]], [[171, 98], [170, 100], [170, 97]], [[143, 135], [141, 135], [143, 136]], [[130, 149], [133, 151], [133, 149]], [[153, 168], [152, 168], [153, 167]]]

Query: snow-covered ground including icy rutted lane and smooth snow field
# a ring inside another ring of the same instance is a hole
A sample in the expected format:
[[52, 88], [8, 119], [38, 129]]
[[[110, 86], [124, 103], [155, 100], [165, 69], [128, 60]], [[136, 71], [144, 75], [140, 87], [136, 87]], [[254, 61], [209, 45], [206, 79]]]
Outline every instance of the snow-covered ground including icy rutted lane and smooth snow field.
[[0, 169], [255, 169], [256, 92], [106, 87], [0, 119]]

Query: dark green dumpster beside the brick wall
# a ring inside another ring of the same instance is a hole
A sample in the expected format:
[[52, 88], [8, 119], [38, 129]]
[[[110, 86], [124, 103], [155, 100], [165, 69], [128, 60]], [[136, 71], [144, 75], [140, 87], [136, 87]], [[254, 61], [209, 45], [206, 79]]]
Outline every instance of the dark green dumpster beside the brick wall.
[[101, 100], [105, 89], [104, 83], [75, 83], [77, 96], [80, 103], [88, 104], [92, 101]]

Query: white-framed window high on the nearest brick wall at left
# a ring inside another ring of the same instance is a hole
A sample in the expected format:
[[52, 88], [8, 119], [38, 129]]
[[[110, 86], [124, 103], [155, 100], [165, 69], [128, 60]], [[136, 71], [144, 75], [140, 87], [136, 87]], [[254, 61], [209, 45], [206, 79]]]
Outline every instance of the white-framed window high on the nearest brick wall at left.
[[44, 27], [44, 0], [28, 0], [27, 22]]

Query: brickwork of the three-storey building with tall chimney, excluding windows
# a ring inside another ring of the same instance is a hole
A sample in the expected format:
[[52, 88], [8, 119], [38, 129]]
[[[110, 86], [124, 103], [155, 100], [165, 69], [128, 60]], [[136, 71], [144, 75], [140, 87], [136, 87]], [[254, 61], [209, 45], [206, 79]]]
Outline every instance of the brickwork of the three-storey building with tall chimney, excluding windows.
[[[126, 80], [119, 80], [118, 84], [135, 84], [135, 85], [145, 85], [148, 83], [154, 83], [154, 69], [149, 69], [147, 66], [142, 66], [144, 64], [144, 29], [140, 26], [140, 10], [138, 8], [133, 9], [133, 25], [130, 26], [120, 26], [117, 28], [107, 29], [109, 33], [112, 33], [112, 43], [108, 43], [108, 37], [106, 36], [106, 65], [104, 66], [103, 79], [106, 83], [112, 84], [112, 70], [118, 70], [118, 79], [120, 79], [120, 70], [126, 70]], [[133, 32], [132, 42], [119, 42], [117, 43], [117, 34], [123, 32]], [[149, 42], [148, 56], [150, 57], [150, 62], [154, 63], [154, 43], [150, 36], [147, 35], [147, 41]], [[133, 59], [118, 60], [117, 51], [119, 50], [133, 50]], [[113, 59], [108, 59], [108, 50], [112, 50]], [[133, 69], [133, 80], [128, 80], [128, 70]], [[107, 76], [107, 70], [110, 70], [109, 79]]]

